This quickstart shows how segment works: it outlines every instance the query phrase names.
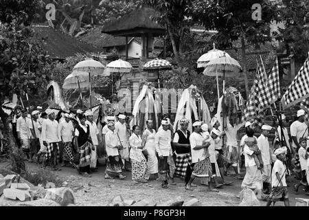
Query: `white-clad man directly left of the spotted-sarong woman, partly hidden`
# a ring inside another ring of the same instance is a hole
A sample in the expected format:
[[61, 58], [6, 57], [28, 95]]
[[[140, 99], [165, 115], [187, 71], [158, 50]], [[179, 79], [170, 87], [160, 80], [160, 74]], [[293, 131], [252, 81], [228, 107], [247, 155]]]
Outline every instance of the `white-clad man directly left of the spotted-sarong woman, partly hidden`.
[[115, 133], [117, 133], [117, 137], [120, 140], [120, 143], [124, 147], [121, 151], [119, 151], [122, 156], [122, 162], [124, 163], [124, 169], [129, 171], [129, 148], [128, 148], [128, 134], [126, 130], [126, 115], [119, 115], [118, 121], [115, 124]]

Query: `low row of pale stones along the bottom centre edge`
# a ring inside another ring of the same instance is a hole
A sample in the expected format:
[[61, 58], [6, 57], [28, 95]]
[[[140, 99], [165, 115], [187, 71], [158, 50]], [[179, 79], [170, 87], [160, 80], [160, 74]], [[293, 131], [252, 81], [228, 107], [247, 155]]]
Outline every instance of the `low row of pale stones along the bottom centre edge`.
[[157, 203], [149, 199], [142, 199], [139, 201], [123, 199], [121, 195], [118, 195], [111, 199], [108, 206], [202, 206], [202, 203], [196, 198], [190, 199], [189, 201], [183, 201], [181, 197], [177, 197], [176, 199]]

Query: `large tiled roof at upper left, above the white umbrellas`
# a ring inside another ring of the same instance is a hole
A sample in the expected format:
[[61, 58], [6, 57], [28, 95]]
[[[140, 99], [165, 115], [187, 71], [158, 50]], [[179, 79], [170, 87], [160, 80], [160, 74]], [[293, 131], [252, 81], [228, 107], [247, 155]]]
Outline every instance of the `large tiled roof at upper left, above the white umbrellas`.
[[67, 58], [78, 53], [98, 52], [93, 45], [79, 41], [47, 25], [32, 25], [32, 28], [35, 32], [34, 38], [43, 39], [47, 54], [53, 58]]

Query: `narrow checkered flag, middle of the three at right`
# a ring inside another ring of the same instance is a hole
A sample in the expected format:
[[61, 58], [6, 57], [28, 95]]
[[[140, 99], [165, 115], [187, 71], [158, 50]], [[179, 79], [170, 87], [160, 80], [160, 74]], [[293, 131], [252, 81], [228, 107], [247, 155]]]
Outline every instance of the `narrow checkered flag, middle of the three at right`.
[[275, 64], [273, 69], [271, 69], [271, 74], [268, 76], [268, 83], [266, 86], [266, 95], [268, 100], [268, 105], [275, 103], [280, 94], [280, 83], [279, 83], [279, 66], [278, 66], [278, 57], [275, 58]]

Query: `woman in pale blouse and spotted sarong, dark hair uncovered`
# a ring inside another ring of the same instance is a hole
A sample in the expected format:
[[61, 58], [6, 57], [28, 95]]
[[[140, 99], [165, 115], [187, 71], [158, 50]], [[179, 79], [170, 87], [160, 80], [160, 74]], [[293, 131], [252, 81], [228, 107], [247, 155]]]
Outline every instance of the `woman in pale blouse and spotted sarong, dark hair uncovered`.
[[133, 126], [133, 134], [129, 138], [131, 146], [130, 159], [132, 163], [132, 179], [141, 183], [147, 183], [145, 179], [147, 173], [147, 160], [143, 155], [142, 140], [139, 135], [139, 126]]

